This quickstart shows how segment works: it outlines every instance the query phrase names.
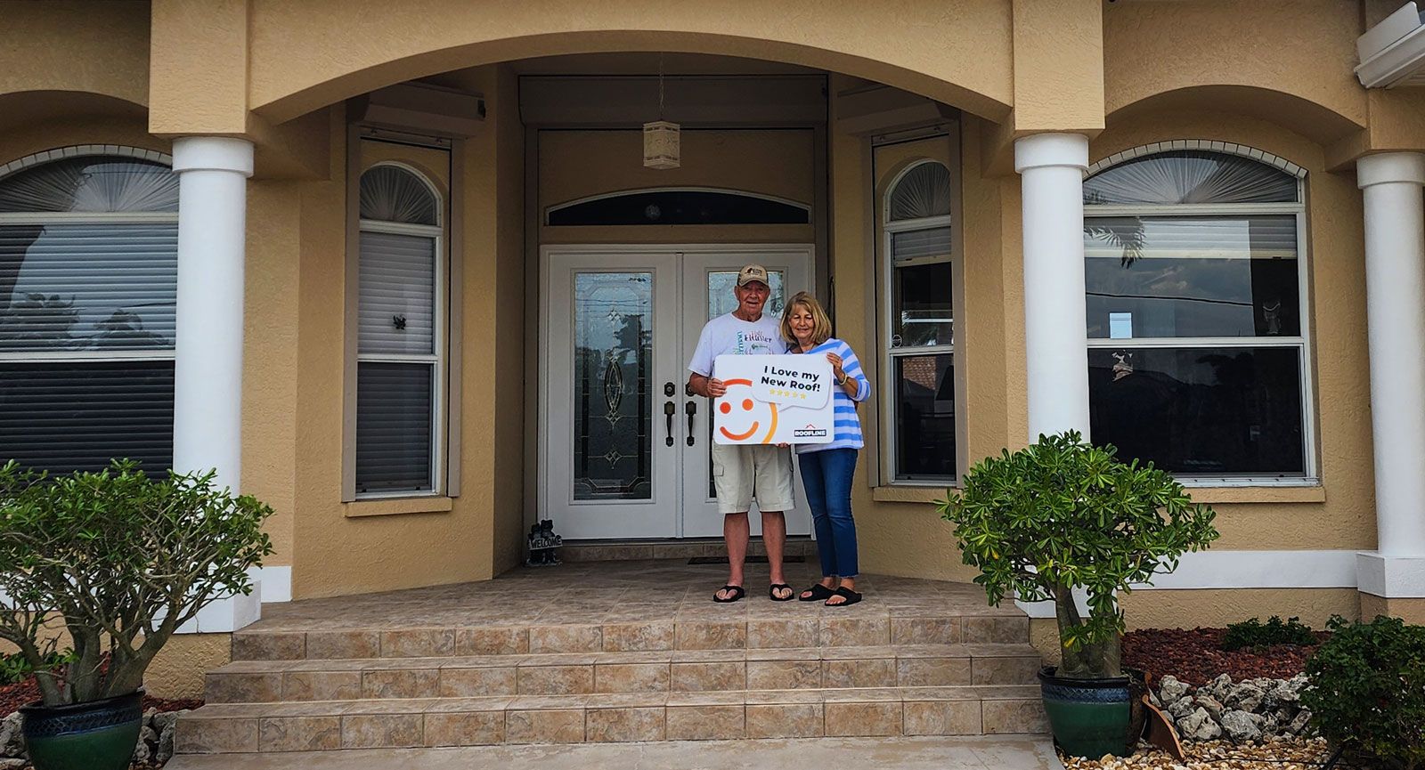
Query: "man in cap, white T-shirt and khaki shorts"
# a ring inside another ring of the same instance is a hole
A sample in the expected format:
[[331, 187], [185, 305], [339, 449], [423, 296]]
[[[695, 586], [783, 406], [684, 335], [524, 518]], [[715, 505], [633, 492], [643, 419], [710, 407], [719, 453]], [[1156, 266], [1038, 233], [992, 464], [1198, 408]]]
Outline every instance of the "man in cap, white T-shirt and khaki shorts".
[[[747, 265], [737, 273], [737, 309], [718, 316], [703, 327], [698, 347], [688, 363], [688, 387], [693, 393], [717, 399], [727, 393], [715, 377], [712, 364], [718, 356], [771, 356], [787, 352], [778, 319], [764, 316], [767, 297], [772, 293], [767, 268]], [[782, 511], [792, 508], [792, 455], [788, 447], [765, 444], [730, 445], [712, 443], [712, 484], [717, 490], [718, 511], [722, 512], [722, 538], [727, 541], [727, 585], [712, 595], [714, 602], [735, 602], [747, 595], [742, 588], [742, 564], [751, 527], [747, 512], [757, 500], [762, 511], [762, 542], [771, 565], [768, 596], [785, 602], [794, 596], [782, 575], [782, 545], [787, 542], [787, 520]]]

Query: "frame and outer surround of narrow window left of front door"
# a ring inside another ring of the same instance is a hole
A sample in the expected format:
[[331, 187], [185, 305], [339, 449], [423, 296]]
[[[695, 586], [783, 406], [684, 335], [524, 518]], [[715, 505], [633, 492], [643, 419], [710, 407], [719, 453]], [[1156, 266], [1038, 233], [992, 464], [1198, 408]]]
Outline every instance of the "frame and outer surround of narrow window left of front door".
[[[452, 309], [452, 222], [455, 219], [455, 201], [453, 191], [455, 185], [450, 184], [452, 195], [442, 192], [440, 186], [430, 178], [430, 175], [418, 168], [416, 165], [392, 158], [379, 158], [370, 162], [363, 162], [362, 147], [368, 142], [376, 142], [383, 145], [399, 147], [405, 142], [390, 142], [379, 138], [368, 138], [352, 132], [351, 144], [351, 164], [348, 167], [348, 253], [346, 253], [346, 295], [345, 295], [345, 319], [346, 319], [346, 362], [345, 367], [345, 416], [343, 416], [343, 451], [342, 451], [342, 501], [343, 502], [369, 502], [369, 501], [389, 501], [389, 500], [410, 500], [410, 498], [433, 498], [433, 497], [450, 497], [456, 480], [453, 478], [452, 465], [457, 463], [453, 457], [452, 443], [449, 436], [457, 430], [456, 426], [447, 424], [452, 418], [450, 416], [456, 413], [452, 408], [452, 399], [455, 387], [450, 381], [450, 350], [452, 336], [455, 329], [452, 329], [453, 309]], [[449, 145], [432, 145], [422, 147], [423, 149], [437, 149], [447, 154], [450, 162], [452, 178], [455, 169], [456, 154]], [[436, 223], [435, 225], [415, 225], [406, 222], [386, 222], [379, 219], [365, 219], [361, 216], [361, 179], [362, 176], [378, 167], [393, 167], [399, 168], [425, 185], [426, 191], [436, 201]], [[453, 179], [452, 179], [453, 182]], [[435, 249], [435, 265], [432, 276], [432, 353], [362, 353], [361, 352], [361, 235], [363, 232], [376, 232], [388, 235], [405, 235], [416, 238], [430, 238], [432, 246]], [[430, 369], [430, 475], [428, 477], [429, 487], [423, 490], [395, 490], [395, 491], [378, 491], [365, 492], [356, 488], [356, 423], [358, 423], [358, 389], [359, 389], [359, 369], [362, 363], [396, 363], [396, 364], [410, 364], [420, 363], [429, 364]]]

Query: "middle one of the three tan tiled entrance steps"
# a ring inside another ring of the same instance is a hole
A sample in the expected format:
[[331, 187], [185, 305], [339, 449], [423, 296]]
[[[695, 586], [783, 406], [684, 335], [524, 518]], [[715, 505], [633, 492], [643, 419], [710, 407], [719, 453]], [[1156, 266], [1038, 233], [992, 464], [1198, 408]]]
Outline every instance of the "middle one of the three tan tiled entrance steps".
[[207, 675], [207, 700], [1032, 685], [1039, 666], [1027, 643], [237, 660]]

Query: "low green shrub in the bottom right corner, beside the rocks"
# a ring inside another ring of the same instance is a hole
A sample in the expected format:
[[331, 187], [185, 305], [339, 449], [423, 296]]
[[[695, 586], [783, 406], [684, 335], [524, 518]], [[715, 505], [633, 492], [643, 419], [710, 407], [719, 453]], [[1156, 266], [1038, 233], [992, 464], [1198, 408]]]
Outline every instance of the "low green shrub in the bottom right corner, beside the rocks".
[[1358, 764], [1425, 767], [1425, 626], [1382, 615], [1327, 629], [1301, 693], [1312, 724]]

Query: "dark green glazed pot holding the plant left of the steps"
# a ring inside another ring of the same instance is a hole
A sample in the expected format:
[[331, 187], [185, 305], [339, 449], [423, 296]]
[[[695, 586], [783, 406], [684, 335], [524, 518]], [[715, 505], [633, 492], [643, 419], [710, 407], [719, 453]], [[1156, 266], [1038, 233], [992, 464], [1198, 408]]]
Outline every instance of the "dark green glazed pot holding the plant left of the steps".
[[144, 726], [144, 690], [74, 703], [21, 706], [34, 770], [127, 770]]

